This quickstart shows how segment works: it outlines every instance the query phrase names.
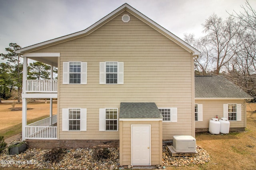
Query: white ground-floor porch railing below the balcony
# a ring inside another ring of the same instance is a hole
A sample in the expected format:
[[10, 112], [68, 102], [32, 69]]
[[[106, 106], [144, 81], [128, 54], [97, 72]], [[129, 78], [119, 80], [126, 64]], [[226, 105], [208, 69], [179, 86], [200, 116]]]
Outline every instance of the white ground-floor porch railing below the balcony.
[[57, 139], [57, 115], [26, 125], [26, 139]]

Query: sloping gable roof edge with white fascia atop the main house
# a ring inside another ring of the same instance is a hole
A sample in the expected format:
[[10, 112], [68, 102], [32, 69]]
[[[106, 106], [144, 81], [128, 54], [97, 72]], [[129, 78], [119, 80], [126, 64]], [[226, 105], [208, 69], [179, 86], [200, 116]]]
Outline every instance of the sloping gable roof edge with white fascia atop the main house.
[[88, 27], [87, 29], [85, 29], [83, 31], [72, 33], [70, 35], [66, 35], [66, 36], [63, 36], [63, 37], [59, 37], [59, 38], [56, 38], [56, 39], [52, 39], [52, 40], [49, 40], [49, 41], [38, 43], [38, 44], [35, 44], [35, 45], [31, 45], [29, 47], [24, 47], [22, 49], [17, 50], [16, 53], [19, 53], [19, 54], [29, 53], [29, 52], [32, 52], [32, 51], [35, 51], [35, 50], [38, 50], [38, 49], [42, 49], [42, 48], [45, 48], [45, 47], [56, 45], [58, 43], [69, 41], [71, 39], [76, 39], [76, 38], [79, 38], [79, 37], [89, 35], [94, 30], [96, 30], [100, 26], [104, 25], [108, 21], [112, 20], [112, 18], [116, 17], [117, 15], [121, 14], [124, 11], [127, 11], [127, 12], [131, 13], [136, 18], [138, 18], [138, 19], [142, 20], [143, 22], [145, 22], [146, 24], [150, 25], [151, 27], [156, 29], [158, 32], [162, 33], [164, 36], [168, 37], [170, 40], [172, 40], [175, 43], [177, 43], [178, 45], [180, 45], [186, 51], [189, 51], [190, 53], [192, 53], [193, 56], [198, 56], [200, 54], [200, 52], [198, 50], [196, 50], [194, 47], [188, 45], [185, 41], [178, 38], [176, 35], [172, 34], [170, 31], [164, 29], [162, 26], [158, 25], [156, 22], [154, 22], [151, 19], [149, 19], [148, 17], [144, 16], [142, 13], [140, 13], [138, 10], [132, 8], [128, 4], [124, 4], [124, 5], [120, 6], [119, 8], [117, 8], [116, 10], [114, 10], [113, 12], [111, 12], [110, 14], [108, 14], [107, 16], [105, 16], [104, 18], [97, 21], [96, 23], [94, 23], [93, 25], [91, 25], [90, 27]]

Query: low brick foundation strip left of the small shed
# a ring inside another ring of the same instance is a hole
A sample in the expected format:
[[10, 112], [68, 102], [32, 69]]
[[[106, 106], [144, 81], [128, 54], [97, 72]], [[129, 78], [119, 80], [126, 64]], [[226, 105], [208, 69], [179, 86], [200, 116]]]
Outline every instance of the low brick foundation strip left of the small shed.
[[26, 140], [29, 149], [119, 147], [119, 140]]

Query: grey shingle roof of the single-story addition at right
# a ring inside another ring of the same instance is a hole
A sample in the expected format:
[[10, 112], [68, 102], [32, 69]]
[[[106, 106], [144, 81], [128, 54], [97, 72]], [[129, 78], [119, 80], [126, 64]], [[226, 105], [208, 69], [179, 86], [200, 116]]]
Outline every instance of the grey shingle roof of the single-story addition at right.
[[252, 99], [223, 76], [195, 76], [195, 98]]

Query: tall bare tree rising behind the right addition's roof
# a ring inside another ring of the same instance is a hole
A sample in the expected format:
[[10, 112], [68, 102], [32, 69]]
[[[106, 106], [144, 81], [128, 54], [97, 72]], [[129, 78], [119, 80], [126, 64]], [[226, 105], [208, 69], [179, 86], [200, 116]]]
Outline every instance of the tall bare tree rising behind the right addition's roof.
[[243, 33], [240, 22], [233, 17], [226, 20], [216, 14], [210, 16], [203, 24], [204, 41], [208, 44], [209, 58], [212, 59], [214, 74], [228, 66], [241, 46], [242, 40], [237, 36]]

